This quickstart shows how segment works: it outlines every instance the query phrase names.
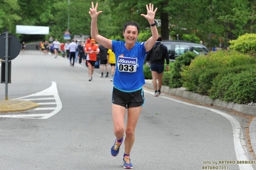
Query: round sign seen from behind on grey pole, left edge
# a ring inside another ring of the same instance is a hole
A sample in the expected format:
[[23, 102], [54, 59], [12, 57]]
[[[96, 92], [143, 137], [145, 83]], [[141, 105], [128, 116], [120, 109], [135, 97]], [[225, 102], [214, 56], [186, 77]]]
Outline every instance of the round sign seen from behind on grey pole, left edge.
[[19, 39], [5, 31], [0, 35], [0, 58], [4, 60], [1, 68], [1, 83], [5, 83], [5, 100], [8, 100], [8, 83], [11, 82], [11, 65], [9, 61], [15, 59], [21, 52]]

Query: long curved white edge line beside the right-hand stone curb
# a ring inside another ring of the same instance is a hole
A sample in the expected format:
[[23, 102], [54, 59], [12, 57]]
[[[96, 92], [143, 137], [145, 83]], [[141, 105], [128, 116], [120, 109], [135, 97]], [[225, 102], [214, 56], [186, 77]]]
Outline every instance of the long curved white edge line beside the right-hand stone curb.
[[[144, 91], [146, 93], [150, 93], [152, 95], [155, 94], [155, 93], [152, 93], [150, 91], [146, 91], [146, 90], [144, 90]], [[246, 145], [245, 145], [245, 141], [244, 141], [244, 138], [243, 138], [243, 132], [241, 130], [242, 129], [241, 125], [235, 118], [226, 114], [225, 112], [221, 112], [221, 111], [218, 111], [216, 109], [212, 109], [210, 107], [204, 107], [204, 106], [201, 106], [201, 105], [189, 104], [189, 103], [186, 103], [186, 102], [182, 102], [180, 100], [175, 100], [173, 98], [168, 98], [168, 97], [163, 97], [163, 96], [158, 96], [158, 97], [166, 98], [167, 100], [172, 100], [174, 102], [178, 102], [178, 103], [181, 103], [181, 104], [200, 107], [201, 109], [207, 109], [209, 111], [216, 112], [217, 114], [225, 117], [228, 121], [230, 121], [230, 123], [233, 127], [234, 147], [235, 147], [235, 155], [237, 157], [237, 160], [250, 160], [249, 157], [248, 157], [248, 153], [246, 151], [246, 148], [245, 148]], [[239, 169], [253, 170], [252, 164], [238, 164], [238, 166], [239, 166]]]

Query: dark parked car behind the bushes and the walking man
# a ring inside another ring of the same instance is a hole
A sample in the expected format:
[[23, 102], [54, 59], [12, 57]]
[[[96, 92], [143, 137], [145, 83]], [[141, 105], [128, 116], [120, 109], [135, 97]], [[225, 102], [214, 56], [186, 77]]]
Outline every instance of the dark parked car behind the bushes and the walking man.
[[166, 45], [169, 53], [169, 59], [175, 60], [178, 56], [184, 54], [187, 51], [192, 51], [195, 54], [207, 54], [209, 49], [199, 44], [181, 40], [162, 40], [162, 43]]

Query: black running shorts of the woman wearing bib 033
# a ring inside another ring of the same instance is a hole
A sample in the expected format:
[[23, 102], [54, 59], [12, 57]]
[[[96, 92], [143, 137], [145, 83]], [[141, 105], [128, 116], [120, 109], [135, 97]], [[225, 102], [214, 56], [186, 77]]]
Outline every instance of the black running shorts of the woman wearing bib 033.
[[113, 88], [112, 104], [121, 105], [125, 108], [143, 106], [145, 102], [144, 91], [139, 89], [133, 92], [124, 92]]

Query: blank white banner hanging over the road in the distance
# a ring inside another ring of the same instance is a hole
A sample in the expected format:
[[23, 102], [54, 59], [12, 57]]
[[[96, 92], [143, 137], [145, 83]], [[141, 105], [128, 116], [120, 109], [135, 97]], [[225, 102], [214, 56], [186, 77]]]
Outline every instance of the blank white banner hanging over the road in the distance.
[[44, 26], [16, 26], [17, 34], [49, 35], [49, 27]]

